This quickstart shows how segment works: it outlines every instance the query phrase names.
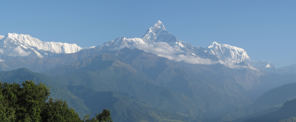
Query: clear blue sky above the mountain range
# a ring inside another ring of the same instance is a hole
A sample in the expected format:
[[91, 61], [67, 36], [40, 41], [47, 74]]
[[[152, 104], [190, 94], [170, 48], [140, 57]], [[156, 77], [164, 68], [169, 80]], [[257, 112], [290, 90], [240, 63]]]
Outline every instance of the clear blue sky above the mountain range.
[[296, 63], [296, 0], [1, 0], [0, 35], [102, 45], [142, 37], [158, 20], [179, 40], [244, 48], [276, 67]]

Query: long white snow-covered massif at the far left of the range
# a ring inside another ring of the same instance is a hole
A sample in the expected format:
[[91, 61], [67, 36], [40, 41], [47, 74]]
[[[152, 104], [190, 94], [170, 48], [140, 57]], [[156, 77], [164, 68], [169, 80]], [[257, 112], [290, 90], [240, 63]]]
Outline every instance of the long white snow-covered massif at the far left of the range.
[[0, 53], [13, 57], [24, 57], [31, 54], [33, 57], [42, 58], [48, 55], [48, 53], [74, 53], [82, 49], [76, 44], [43, 42], [30, 35], [16, 33], [8, 33], [0, 38], [2, 38], [0, 40]]

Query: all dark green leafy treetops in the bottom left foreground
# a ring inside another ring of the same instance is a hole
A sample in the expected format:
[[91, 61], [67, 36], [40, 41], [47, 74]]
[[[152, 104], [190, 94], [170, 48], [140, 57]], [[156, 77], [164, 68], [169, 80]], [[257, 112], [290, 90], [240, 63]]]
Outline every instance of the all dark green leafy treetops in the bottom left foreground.
[[[43, 83], [25, 81], [22, 87], [15, 82], [0, 84], [0, 122], [83, 122], [66, 101], [50, 98], [45, 102], [50, 92]], [[112, 122], [110, 116], [105, 109], [96, 122]]]

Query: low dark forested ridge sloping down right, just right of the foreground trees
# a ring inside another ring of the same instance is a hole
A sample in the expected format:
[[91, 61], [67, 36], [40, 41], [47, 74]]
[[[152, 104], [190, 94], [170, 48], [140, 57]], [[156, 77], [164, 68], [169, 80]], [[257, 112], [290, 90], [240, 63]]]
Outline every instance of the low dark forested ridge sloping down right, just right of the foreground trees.
[[152, 109], [147, 102], [128, 93], [99, 92], [85, 86], [69, 86], [69, 89], [85, 101], [92, 113], [108, 108], [112, 112], [112, 119], [120, 122], [157, 122], [166, 120], [160, 117], [168, 114], [171, 114], [169, 118], [182, 120], [180, 115]]

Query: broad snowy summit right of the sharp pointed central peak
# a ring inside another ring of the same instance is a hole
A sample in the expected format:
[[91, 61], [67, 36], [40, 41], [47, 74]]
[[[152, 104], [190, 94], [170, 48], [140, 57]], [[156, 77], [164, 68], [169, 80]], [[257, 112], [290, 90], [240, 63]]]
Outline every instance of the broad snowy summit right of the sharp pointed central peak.
[[219, 44], [216, 41], [214, 41], [212, 45], [208, 46], [208, 51], [211, 54], [217, 55], [218, 58], [223, 61], [240, 63], [250, 60], [250, 57], [244, 49], [230, 46], [228, 44]]

